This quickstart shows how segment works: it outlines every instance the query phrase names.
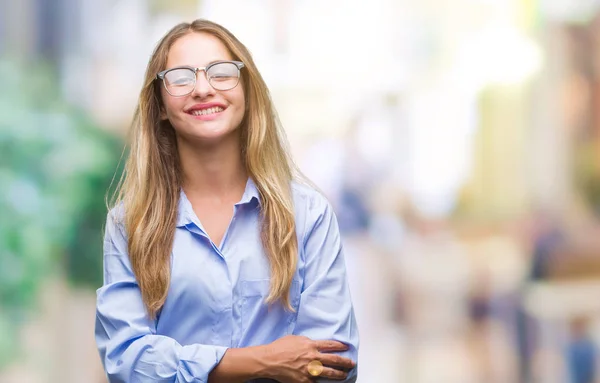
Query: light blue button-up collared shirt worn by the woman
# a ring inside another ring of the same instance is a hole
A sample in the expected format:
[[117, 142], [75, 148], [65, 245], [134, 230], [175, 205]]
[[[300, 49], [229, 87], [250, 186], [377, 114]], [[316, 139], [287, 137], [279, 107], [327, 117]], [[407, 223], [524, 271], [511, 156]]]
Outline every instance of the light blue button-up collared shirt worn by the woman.
[[[264, 302], [270, 267], [260, 240], [260, 198], [251, 179], [220, 246], [209, 239], [181, 192], [171, 284], [157, 320], [148, 318], [142, 303], [122, 211], [109, 213], [96, 343], [111, 383], [207, 382], [228, 347], [263, 345], [289, 334], [346, 343], [350, 348], [340, 355], [358, 361], [358, 330], [335, 214], [313, 189], [292, 183], [292, 191], [298, 238], [290, 291], [295, 312]], [[356, 370], [347, 382], [356, 380]]]

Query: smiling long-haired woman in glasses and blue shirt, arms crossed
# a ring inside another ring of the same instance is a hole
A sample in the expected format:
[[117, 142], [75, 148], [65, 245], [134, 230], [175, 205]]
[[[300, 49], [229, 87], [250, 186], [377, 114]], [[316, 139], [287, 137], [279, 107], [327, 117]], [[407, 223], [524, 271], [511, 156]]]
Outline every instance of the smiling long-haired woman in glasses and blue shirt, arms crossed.
[[96, 342], [110, 382], [356, 380], [336, 218], [293, 180], [283, 143], [244, 45], [205, 20], [167, 33], [107, 219]]

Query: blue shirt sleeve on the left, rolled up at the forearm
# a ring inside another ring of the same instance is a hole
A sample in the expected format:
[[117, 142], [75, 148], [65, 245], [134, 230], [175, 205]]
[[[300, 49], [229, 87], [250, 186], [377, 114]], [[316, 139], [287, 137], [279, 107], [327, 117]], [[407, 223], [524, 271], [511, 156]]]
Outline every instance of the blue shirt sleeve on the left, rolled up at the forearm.
[[[114, 212], [114, 211], [113, 211]], [[96, 345], [110, 383], [207, 382], [227, 347], [190, 344], [156, 334], [146, 314], [114, 213], [104, 238], [104, 284], [97, 291]]]

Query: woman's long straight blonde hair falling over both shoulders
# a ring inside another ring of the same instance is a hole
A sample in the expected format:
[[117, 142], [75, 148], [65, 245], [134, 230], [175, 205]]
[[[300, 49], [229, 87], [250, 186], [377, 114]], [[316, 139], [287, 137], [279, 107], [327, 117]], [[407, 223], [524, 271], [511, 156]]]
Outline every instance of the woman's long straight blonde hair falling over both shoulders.
[[240, 126], [242, 158], [261, 200], [261, 241], [271, 267], [267, 302], [280, 300], [292, 310], [289, 291], [298, 243], [290, 184], [297, 168], [288, 154], [269, 91], [250, 52], [227, 29], [201, 19], [171, 29], [150, 58], [131, 126], [125, 171], [113, 196], [113, 207], [123, 205], [129, 259], [142, 299], [148, 315], [155, 318], [167, 298], [181, 188], [175, 131], [168, 120], [161, 121], [162, 84], [155, 78], [165, 69], [173, 43], [194, 32], [219, 38], [232, 58], [245, 65], [241, 75], [246, 95], [246, 113]]

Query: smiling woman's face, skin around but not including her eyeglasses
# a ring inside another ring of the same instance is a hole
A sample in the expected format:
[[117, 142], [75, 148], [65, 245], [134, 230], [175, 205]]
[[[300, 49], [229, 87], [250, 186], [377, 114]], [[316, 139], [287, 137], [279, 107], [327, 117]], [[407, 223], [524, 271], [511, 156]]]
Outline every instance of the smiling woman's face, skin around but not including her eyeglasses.
[[[203, 68], [216, 61], [231, 61], [225, 45], [208, 33], [189, 33], [171, 46], [165, 69], [178, 66]], [[177, 81], [177, 78], [172, 78]], [[234, 133], [244, 117], [245, 98], [242, 81], [230, 90], [215, 90], [204, 71], [196, 73], [196, 87], [175, 97], [161, 86], [163, 111], [177, 135], [184, 140], [218, 142]]]

